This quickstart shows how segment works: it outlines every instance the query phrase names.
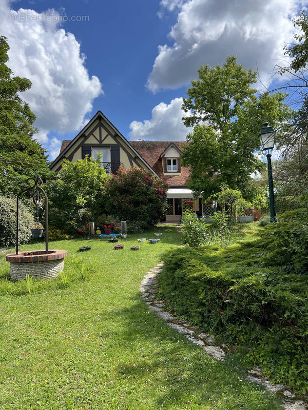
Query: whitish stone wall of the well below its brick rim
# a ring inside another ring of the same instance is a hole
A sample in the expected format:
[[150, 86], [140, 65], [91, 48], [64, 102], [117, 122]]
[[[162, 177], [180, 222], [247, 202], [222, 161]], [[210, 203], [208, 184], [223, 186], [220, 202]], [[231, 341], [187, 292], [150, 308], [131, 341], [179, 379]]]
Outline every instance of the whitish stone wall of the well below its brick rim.
[[33, 263], [10, 262], [10, 273], [14, 280], [26, 280], [26, 274], [34, 279], [52, 279], [63, 272], [63, 267], [64, 259]]

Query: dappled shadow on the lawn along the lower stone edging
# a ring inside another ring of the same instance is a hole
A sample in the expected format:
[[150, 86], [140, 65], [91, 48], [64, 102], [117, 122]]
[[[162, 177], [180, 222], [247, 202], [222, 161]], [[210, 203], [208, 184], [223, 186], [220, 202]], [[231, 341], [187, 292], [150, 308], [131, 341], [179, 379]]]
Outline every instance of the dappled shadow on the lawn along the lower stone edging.
[[[121, 318], [121, 334], [117, 338], [125, 360], [118, 363], [118, 376], [125, 375], [141, 393], [145, 391], [152, 397], [153, 407], [149, 408], [279, 408], [273, 395], [247, 382], [244, 374], [228, 362], [211, 358], [171, 329], [148, 309], [139, 294], [133, 299], [136, 303], [131, 308], [108, 312], [108, 320]], [[108, 339], [108, 333], [102, 337]], [[146, 408], [139, 404], [138, 408]]]

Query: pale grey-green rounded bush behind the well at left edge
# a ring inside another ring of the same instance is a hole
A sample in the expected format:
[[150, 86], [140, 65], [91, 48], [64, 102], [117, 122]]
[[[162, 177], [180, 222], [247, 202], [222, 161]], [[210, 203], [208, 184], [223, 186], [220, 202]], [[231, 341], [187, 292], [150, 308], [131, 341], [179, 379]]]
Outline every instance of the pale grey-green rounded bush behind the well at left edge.
[[[27, 242], [31, 237], [34, 218], [22, 202], [19, 203], [18, 243]], [[0, 248], [16, 244], [16, 199], [0, 196]]]

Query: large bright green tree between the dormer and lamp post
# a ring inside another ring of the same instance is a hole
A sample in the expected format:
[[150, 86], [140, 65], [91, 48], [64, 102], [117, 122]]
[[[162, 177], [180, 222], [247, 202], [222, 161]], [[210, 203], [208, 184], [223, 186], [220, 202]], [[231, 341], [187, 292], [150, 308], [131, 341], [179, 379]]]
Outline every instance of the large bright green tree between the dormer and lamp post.
[[184, 124], [194, 131], [187, 135], [182, 163], [190, 167], [190, 187], [204, 199], [226, 183], [253, 201], [247, 186], [251, 175], [264, 167], [256, 155], [261, 125], [266, 120], [279, 128], [292, 116], [281, 92], [258, 98], [256, 80], [256, 72], [230, 56], [222, 67], [201, 66], [199, 79], [191, 81], [183, 99], [182, 108], [192, 113], [183, 118]]

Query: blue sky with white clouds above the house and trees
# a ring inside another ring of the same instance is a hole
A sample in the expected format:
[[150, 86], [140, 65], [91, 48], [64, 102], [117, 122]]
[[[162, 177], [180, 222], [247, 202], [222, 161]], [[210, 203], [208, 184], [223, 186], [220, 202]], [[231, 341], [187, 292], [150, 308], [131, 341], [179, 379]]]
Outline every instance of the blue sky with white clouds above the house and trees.
[[98, 110], [128, 140], [185, 140], [190, 81], [228, 55], [277, 85], [307, 1], [0, 0], [0, 34], [14, 75], [32, 81], [22, 98], [52, 160]]

